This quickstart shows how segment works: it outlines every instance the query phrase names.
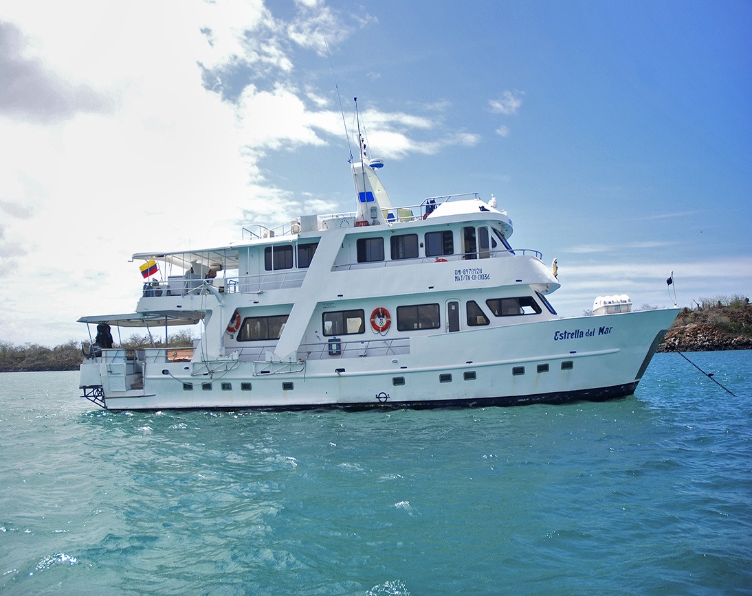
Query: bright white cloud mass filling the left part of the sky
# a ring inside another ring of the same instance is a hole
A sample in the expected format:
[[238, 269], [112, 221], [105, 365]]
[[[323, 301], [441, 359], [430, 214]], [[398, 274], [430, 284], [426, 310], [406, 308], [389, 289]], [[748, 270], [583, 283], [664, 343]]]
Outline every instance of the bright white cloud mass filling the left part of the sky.
[[[83, 314], [132, 310], [136, 251], [222, 245], [249, 219], [335, 210], [270, 183], [260, 160], [341, 143], [338, 106], [298, 80], [294, 50], [374, 20], [296, 6], [285, 23], [261, 0], [3, 2], [0, 71], [40, 100], [0, 99], [0, 266], [13, 272], [0, 338], [62, 343], [83, 334]], [[479, 141], [420, 110], [366, 110], [381, 156]]]

